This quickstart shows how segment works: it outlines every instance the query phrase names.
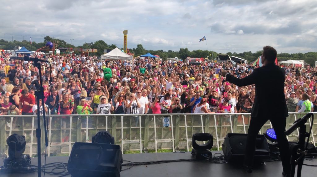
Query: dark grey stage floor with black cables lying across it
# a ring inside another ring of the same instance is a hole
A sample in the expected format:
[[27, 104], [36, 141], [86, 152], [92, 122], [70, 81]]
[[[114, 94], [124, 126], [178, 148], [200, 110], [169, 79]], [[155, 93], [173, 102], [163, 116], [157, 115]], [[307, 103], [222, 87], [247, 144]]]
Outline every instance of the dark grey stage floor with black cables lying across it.
[[[212, 151], [212, 153], [223, 153], [222, 151]], [[146, 153], [146, 154], [123, 154], [123, 160], [132, 162], [142, 161], [157, 161], [157, 160], [177, 160], [177, 159], [192, 159], [190, 152], [186, 153]], [[46, 163], [52, 162], [68, 162], [68, 156], [61, 157], [47, 157]], [[44, 163], [44, 157], [42, 157], [42, 163]], [[128, 163], [124, 161], [123, 163]], [[305, 164], [317, 165], [317, 160], [304, 161]], [[0, 166], [3, 165], [3, 159], [0, 161]], [[32, 158], [31, 165], [37, 165], [37, 158]], [[127, 168], [123, 166], [122, 169]], [[302, 176], [315, 177], [317, 174], [317, 167], [303, 166]], [[37, 172], [29, 174], [3, 174], [0, 173], [1, 177], [36, 177]], [[43, 173], [42, 173], [43, 176]], [[58, 175], [45, 174], [46, 177]], [[70, 176], [70, 175], [68, 175]], [[282, 177], [282, 163], [281, 161], [266, 162], [265, 165], [259, 165], [254, 167], [253, 173], [246, 173], [241, 164], [233, 165], [228, 163], [215, 164], [212, 162], [172, 162], [156, 165], [143, 165], [134, 166], [131, 169], [121, 172], [122, 177], [203, 177], [203, 176], [214, 176], [214, 177]]]

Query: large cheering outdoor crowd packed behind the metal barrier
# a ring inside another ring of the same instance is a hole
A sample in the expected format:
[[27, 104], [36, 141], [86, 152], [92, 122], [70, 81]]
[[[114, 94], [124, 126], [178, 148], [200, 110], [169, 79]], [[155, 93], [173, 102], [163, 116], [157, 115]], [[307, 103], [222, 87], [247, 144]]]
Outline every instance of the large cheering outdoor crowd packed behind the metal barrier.
[[[246, 77], [257, 67], [252, 64], [38, 57], [50, 65], [42, 63], [39, 71], [31, 62], [10, 60], [10, 54], [0, 56], [1, 115], [37, 114], [39, 72], [45, 97], [44, 103], [40, 101], [41, 114], [250, 113], [256, 95], [254, 85], [237, 87], [220, 75], [228, 70], [236, 77]], [[316, 69], [281, 67], [286, 74], [288, 112], [317, 111]], [[274, 98], [267, 99], [274, 102]]]

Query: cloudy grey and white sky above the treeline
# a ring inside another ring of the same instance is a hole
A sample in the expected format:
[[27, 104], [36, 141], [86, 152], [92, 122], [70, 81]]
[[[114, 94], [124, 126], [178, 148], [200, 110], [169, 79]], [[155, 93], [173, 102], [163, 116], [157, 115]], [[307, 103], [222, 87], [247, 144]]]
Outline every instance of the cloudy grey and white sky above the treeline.
[[[0, 38], [40, 42], [41, 36], [75, 46], [104, 40], [128, 48], [219, 53], [317, 51], [316, 0], [15, 0], [1, 2]], [[1, 34], [2, 33], [2, 34]], [[43, 37], [42, 37], [43, 41]]]

